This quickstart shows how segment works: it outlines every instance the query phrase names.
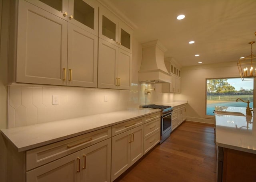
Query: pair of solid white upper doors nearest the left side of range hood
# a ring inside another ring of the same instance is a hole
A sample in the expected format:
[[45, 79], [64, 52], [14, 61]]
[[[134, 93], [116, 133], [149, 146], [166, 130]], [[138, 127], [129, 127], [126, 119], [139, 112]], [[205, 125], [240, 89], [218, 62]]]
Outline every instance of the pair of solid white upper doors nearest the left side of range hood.
[[99, 38], [98, 88], [130, 90], [132, 54]]

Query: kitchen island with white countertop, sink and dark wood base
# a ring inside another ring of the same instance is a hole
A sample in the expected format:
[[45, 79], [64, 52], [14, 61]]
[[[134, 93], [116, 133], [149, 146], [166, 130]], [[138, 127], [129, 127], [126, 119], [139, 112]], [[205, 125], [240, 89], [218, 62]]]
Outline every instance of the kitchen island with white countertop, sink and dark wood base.
[[255, 117], [241, 107], [215, 110], [218, 182], [256, 181]]

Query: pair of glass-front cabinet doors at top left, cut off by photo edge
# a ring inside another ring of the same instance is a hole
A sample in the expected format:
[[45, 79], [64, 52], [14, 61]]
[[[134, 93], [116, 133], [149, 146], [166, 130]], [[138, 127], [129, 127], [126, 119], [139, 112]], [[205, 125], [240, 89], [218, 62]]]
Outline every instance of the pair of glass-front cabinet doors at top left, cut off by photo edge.
[[26, 0], [86, 31], [98, 34], [98, 3], [95, 0]]

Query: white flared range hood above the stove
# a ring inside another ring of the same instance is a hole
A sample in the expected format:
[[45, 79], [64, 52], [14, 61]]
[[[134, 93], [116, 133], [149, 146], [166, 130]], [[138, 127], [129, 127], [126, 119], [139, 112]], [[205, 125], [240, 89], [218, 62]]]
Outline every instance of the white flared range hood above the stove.
[[170, 83], [171, 76], [164, 64], [166, 48], [158, 40], [142, 44], [142, 63], [139, 81], [151, 83]]

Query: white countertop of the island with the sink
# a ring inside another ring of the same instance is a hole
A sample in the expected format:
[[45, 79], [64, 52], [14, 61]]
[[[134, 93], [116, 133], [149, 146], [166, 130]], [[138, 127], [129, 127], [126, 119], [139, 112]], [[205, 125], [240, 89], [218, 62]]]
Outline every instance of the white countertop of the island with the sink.
[[[241, 107], [216, 106], [215, 110], [246, 115], [246, 108]], [[256, 117], [215, 114], [215, 119], [218, 146], [256, 154]]]

